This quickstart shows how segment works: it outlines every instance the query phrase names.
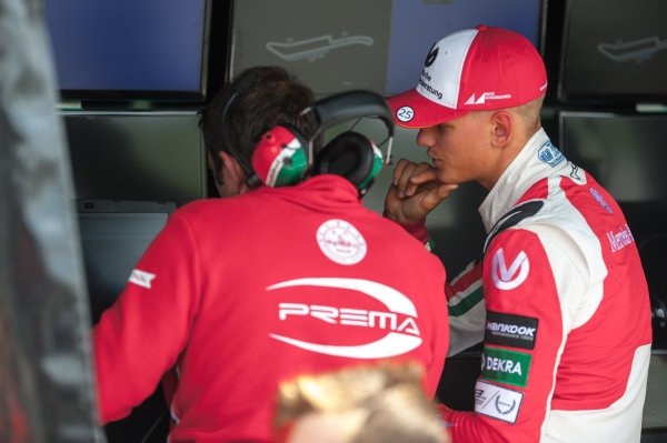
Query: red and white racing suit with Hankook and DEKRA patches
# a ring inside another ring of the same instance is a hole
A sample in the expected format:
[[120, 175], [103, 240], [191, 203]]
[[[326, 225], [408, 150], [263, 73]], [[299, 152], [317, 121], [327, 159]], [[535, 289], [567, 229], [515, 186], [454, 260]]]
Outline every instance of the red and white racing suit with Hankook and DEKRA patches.
[[638, 442], [650, 306], [616, 201], [540, 129], [479, 212], [484, 260], [447, 289], [449, 355], [484, 340], [454, 442]]

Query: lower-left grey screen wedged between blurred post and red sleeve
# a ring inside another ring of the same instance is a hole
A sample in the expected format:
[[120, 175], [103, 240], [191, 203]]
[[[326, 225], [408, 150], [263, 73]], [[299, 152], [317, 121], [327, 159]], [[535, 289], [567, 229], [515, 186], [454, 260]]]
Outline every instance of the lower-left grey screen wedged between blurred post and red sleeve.
[[77, 200], [93, 323], [122, 292], [132, 269], [175, 210], [171, 202]]

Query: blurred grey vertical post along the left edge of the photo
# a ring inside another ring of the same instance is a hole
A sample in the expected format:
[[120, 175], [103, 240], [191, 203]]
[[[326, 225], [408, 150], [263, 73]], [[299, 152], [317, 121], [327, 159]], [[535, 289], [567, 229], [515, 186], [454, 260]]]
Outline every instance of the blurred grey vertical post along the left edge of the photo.
[[40, 0], [0, 0], [0, 442], [96, 442], [90, 318]]

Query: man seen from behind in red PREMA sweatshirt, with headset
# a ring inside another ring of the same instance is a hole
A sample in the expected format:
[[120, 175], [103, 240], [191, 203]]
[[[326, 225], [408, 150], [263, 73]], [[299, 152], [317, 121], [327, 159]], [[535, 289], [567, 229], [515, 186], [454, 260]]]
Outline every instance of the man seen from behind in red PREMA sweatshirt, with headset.
[[[166, 374], [171, 443], [270, 442], [279, 382], [352, 363], [417, 360], [435, 395], [448, 346], [445, 269], [364, 208], [386, 163], [379, 148], [351, 131], [319, 142], [332, 122], [367, 114], [392, 134], [381, 97], [315, 102], [275, 67], [239, 74], [202, 110], [225, 198], [173, 212], [94, 326], [102, 423]], [[346, 153], [364, 168], [338, 164]]]

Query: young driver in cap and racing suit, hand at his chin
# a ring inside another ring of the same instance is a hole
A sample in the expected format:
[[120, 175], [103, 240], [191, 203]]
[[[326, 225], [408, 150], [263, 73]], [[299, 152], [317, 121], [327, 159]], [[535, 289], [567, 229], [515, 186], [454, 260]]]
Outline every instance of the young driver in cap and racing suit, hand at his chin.
[[444, 409], [452, 441], [638, 442], [650, 308], [614, 198], [551, 144], [541, 58], [480, 26], [432, 46], [419, 85], [389, 99], [432, 165], [401, 160], [386, 215], [428, 240], [424, 218], [457, 183], [488, 191], [484, 259], [447, 288], [450, 349], [484, 340], [475, 411]]

